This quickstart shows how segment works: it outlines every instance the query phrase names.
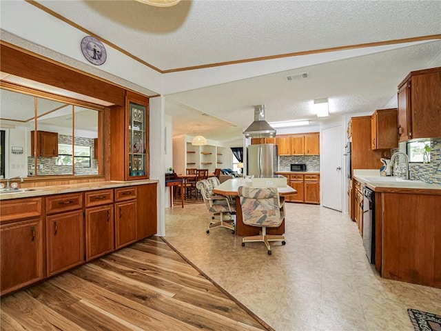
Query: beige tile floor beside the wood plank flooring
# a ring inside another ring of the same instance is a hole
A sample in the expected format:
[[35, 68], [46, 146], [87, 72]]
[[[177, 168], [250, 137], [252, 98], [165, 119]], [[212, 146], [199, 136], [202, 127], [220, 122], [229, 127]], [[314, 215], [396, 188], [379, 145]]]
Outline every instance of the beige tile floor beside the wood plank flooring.
[[347, 214], [286, 205], [287, 244], [270, 256], [225, 228], [206, 234], [203, 204], [166, 208], [165, 239], [277, 331], [411, 331], [407, 308], [441, 314], [440, 289], [380, 278]]

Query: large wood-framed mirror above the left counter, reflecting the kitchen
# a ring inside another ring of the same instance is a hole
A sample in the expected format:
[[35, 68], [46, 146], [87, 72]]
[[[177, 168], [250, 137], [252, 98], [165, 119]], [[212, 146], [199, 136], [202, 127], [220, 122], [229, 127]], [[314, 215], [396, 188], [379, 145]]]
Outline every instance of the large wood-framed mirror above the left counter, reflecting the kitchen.
[[2, 81], [4, 178], [102, 175], [103, 106]]

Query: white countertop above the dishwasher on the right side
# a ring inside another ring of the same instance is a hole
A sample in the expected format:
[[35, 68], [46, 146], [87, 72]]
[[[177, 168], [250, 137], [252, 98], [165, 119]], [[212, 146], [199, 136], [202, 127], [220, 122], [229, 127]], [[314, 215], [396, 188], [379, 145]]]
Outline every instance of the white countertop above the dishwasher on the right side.
[[[353, 178], [360, 183], [376, 188], [412, 189], [412, 190], [440, 190], [441, 185], [412, 181], [400, 177], [382, 177], [379, 170], [353, 170]], [[434, 192], [435, 193], [435, 192]]]

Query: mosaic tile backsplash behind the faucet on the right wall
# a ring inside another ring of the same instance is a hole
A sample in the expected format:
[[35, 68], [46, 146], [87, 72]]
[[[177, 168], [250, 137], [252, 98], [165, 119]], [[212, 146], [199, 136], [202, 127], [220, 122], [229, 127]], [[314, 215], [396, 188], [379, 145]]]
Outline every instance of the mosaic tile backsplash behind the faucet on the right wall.
[[[398, 152], [398, 148], [391, 150], [391, 153]], [[398, 164], [398, 158], [394, 161], [393, 176], [404, 177], [404, 163]], [[441, 185], [441, 139], [431, 141], [431, 161], [430, 163], [410, 163], [410, 178], [413, 180], [424, 181], [429, 184]]]

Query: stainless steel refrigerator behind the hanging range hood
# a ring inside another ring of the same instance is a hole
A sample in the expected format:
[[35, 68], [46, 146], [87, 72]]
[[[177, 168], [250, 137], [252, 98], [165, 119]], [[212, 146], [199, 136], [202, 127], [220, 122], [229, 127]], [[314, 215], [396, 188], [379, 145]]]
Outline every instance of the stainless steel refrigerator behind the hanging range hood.
[[273, 177], [278, 171], [277, 145], [261, 143], [247, 148], [247, 174], [254, 177]]

